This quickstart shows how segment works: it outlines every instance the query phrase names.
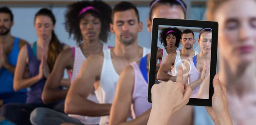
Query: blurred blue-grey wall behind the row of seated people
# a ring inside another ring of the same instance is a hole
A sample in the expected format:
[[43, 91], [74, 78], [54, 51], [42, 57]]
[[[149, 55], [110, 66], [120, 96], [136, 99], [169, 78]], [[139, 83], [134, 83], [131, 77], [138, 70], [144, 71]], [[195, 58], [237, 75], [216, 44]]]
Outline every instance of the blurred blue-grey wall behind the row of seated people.
[[[68, 39], [68, 33], [64, 29], [64, 12], [67, 4], [79, 0], [0, 0], [0, 6], [8, 6], [14, 14], [14, 26], [11, 29], [13, 36], [25, 39], [32, 43], [38, 39], [34, 28], [35, 13], [43, 7], [52, 10], [56, 18], [55, 33], [61, 42], [64, 42], [71, 47], [76, 42], [71, 37]], [[103, 0], [110, 6], [114, 6], [121, 0]], [[139, 11], [140, 20], [143, 22], [143, 31], [138, 35], [138, 44], [142, 47], [150, 48], [151, 33], [148, 32], [146, 22], [149, 17], [149, 4], [151, 0], [126, 0], [134, 3]], [[205, 20], [206, 2], [207, 0], [183, 0], [187, 5], [186, 19]], [[183, 31], [183, 30], [182, 30]], [[196, 34], [196, 33], [195, 33]], [[197, 33], [198, 34], [198, 33]], [[195, 35], [198, 36], [198, 35]], [[197, 37], [196, 37], [197, 38]], [[196, 39], [197, 41], [197, 39]], [[108, 45], [115, 45], [115, 36], [111, 34], [108, 40]], [[163, 48], [158, 42], [159, 47]], [[198, 48], [198, 43], [194, 45], [194, 49]], [[180, 49], [182, 46], [180, 46]], [[199, 48], [200, 49], [200, 48]], [[197, 50], [198, 51], [198, 50]], [[200, 51], [200, 50], [199, 50]], [[64, 78], [67, 78], [65, 72]]]

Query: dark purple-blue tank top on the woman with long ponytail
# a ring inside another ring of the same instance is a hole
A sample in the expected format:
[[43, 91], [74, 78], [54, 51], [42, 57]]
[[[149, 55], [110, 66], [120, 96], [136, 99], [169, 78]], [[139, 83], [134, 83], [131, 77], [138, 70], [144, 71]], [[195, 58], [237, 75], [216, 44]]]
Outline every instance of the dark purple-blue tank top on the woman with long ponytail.
[[[28, 57], [29, 57], [29, 78], [33, 78], [39, 73], [39, 66], [41, 61], [38, 60], [36, 56], [36, 47], [37, 42], [33, 44], [33, 48], [30, 44], [27, 44]], [[64, 47], [64, 44], [62, 44]], [[46, 83], [46, 78], [41, 79], [33, 86], [30, 86], [30, 91], [28, 91], [28, 97], [26, 103], [34, 103], [34, 104], [43, 104], [43, 100], [41, 98], [42, 92], [44, 89], [44, 85]], [[59, 87], [58, 89], [63, 89], [63, 87]]]

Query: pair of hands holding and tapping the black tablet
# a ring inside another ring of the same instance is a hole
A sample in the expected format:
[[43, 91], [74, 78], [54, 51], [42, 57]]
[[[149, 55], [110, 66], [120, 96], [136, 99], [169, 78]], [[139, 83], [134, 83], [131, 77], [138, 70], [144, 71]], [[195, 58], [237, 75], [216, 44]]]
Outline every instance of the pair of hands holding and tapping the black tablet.
[[[152, 110], [148, 125], [153, 125], [154, 123], [166, 125], [172, 114], [179, 111], [189, 102], [192, 89], [186, 86], [186, 84], [183, 86], [182, 71], [182, 66], [179, 66], [176, 83], [168, 81], [152, 86]], [[213, 79], [213, 87], [212, 107], [206, 107], [208, 114], [215, 125], [233, 125], [228, 111], [227, 89], [221, 81], [219, 81], [218, 74], [216, 74]], [[185, 91], [183, 92], [183, 90]]]

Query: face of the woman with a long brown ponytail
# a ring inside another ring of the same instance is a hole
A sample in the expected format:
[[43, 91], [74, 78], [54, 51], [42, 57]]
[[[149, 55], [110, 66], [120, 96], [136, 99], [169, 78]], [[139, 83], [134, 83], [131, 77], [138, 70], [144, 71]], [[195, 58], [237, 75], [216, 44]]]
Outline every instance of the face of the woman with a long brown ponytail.
[[41, 39], [49, 39], [52, 36], [54, 27], [55, 25], [53, 25], [52, 19], [48, 16], [37, 16], [35, 18], [35, 30]]

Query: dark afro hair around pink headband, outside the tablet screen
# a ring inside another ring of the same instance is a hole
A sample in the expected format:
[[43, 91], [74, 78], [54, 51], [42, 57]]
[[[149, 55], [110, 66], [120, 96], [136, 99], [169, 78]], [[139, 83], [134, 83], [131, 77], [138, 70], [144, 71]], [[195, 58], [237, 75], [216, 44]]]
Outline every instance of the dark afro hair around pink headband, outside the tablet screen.
[[[99, 12], [95, 10], [87, 10], [80, 16], [80, 11], [87, 7], [87, 6], [93, 6], [98, 10]], [[94, 17], [98, 17], [101, 21], [101, 32], [99, 34], [99, 39], [102, 42], [108, 41], [108, 36], [110, 34], [110, 27], [109, 24], [111, 23], [111, 13], [112, 8], [107, 3], [103, 2], [102, 0], [82, 0], [75, 3], [71, 3], [67, 6], [67, 10], [65, 12], [65, 30], [69, 33], [69, 38], [71, 35], [74, 35], [74, 40], [76, 42], [81, 42], [83, 40], [83, 36], [81, 34], [81, 30], [79, 27], [81, 19], [84, 17], [85, 14], [90, 13]]]

